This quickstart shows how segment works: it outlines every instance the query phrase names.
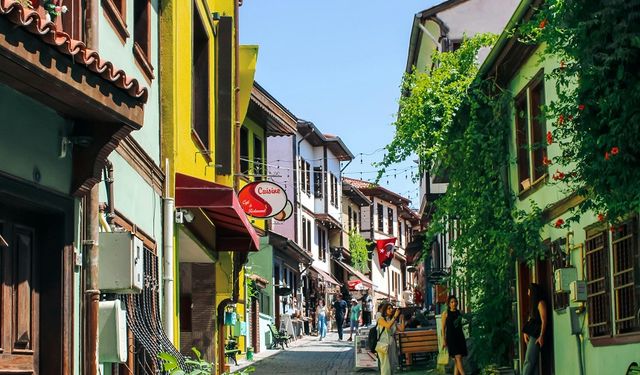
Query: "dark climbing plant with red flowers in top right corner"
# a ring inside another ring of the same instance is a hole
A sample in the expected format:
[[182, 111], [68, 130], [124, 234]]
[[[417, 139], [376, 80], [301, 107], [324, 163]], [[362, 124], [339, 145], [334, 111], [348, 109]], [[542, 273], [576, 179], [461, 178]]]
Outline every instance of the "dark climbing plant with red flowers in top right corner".
[[561, 154], [555, 179], [585, 198], [573, 219], [595, 212], [616, 224], [640, 210], [640, 1], [547, 0], [519, 28], [560, 66], [558, 99], [546, 108]]

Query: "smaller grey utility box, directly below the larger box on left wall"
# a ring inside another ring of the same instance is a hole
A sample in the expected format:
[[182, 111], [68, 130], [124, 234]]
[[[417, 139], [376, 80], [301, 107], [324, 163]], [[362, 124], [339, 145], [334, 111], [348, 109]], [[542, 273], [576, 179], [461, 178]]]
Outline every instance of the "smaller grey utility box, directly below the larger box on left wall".
[[100, 335], [98, 361], [123, 363], [127, 361], [127, 313], [119, 299], [100, 301], [98, 332]]

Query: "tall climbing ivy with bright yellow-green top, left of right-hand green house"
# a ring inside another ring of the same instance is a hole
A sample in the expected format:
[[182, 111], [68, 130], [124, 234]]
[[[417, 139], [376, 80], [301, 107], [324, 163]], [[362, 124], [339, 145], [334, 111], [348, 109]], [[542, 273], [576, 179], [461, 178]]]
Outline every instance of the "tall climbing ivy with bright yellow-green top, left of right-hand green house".
[[448, 177], [427, 238], [459, 222], [460, 235], [450, 242], [450, 283], [473, 296], [470, 334], [481, 366], [508, 361], [515, 335], [514, 264], [542, 252], [540, 209], [514, 209], [506, 188], [512, 94], [476, 77], [478, 51], [495, 40], [490, 34], [467, 39], [455, 52], [436, 53], [428, 73], [405, 76], [396, 134], [379, 165], [381, 176], [416, 153], [421, 173]]

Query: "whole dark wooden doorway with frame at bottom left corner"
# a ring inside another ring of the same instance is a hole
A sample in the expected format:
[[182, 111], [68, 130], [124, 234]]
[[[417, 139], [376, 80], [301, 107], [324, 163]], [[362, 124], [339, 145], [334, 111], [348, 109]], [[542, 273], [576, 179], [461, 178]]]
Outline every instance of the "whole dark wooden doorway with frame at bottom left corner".
[[[29, 195], [28, 187], [20, 189]], [[0, 374], [70, 371], [73, 246], [65, 246], [65, 233], [72, 206], [71, 200], [44, 194], [36, 191], [38, 199], [27, 200], [0, 191], [0, 235], [8, 245], [0, 248]]]

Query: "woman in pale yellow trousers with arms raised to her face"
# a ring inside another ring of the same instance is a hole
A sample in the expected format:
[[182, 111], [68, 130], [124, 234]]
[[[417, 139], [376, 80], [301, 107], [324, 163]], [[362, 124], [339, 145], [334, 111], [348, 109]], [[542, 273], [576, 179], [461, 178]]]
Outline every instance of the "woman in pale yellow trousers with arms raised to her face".
[[[398, 365], [398, 353], [396, 351], [396, 330], [404, 331], [404, 320], [400, 315], [400, 309], [394, 309], [393, 305], [385, 302], [380, 307], [381, 316], [377, 320], [378, 343], [376, 353], [381, 375], [392, 375]], [[396, 322], [400, 316], [399, 324]]]

